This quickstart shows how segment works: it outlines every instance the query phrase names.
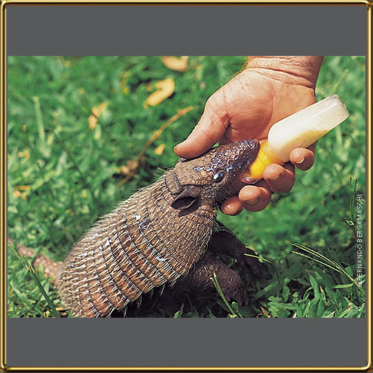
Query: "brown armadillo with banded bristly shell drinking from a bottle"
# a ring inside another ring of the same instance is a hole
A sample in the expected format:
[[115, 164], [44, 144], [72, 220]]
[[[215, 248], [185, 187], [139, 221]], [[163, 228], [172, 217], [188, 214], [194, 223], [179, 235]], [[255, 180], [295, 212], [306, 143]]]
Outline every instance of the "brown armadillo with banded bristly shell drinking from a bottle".
[[222, 240], [245, 251], [238, 238], [224, 238], [226, 231], [214, 233], [216, 207], [245, 185], [240, 176], [259, 147], [257, 140], [243, 140], [181, 158], [157, 182], [101, 218], [62, 265], [50, 266], [66, 307], [77, 317], [108, 316], [177, 280], [209, 287], [213, 273], [228, 298], [247, 302], [240, 276], [205, 251]]

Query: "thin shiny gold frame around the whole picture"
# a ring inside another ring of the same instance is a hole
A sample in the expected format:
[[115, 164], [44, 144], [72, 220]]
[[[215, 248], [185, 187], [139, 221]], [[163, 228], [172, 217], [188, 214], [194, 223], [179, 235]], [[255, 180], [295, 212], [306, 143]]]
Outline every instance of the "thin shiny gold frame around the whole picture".
[[[7, 8], [9, 6], [30, 6], [30, 5], [291, 5], [291, 6], [365, 6], [367, 16], [367, 48], [366, 48], [366, 166], [367, 166], [367, 191], [366, 191], [366, 216], [367, 216], [367, 365], [364, 367], [11, 367], [6, 362], [6, 318], [7, 318], [7, 271], [6, 271], [6, 232], [7, 232], [7, 219], [6, 219], [6, 200], [7, 200], [7, 171], [6, 171], [6, 103], [7, 103], [7, 76], [6, 76], [6, 22], [7, 22]], [[213, 2], [189, 0], [189, 1], [125, 1], [125, 0], [111, 0], [111, 1], [95, 1], [95, 0], [66, 0], [66, 1], [52, 1], [52, 0], [2, 0], [1, 1], [1, 288], [0, 288], [0, 329], [1, 329], [1, 350], [0, 350], [0, 370], [3, 372], [19, 372], [19, 371], [367, 371], [372, 368], [372, 7], [373, 2], [369, 0], [236, 0], [233, 3], [226, 0], [216, 0]]]

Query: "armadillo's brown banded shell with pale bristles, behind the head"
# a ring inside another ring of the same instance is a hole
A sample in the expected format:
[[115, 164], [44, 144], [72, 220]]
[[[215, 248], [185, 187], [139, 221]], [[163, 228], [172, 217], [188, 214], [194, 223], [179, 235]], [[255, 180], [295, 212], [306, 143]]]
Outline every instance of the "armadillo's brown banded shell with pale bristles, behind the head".
[[75, 316], [123, 309], [195, 265], [212, 233], [213, 209], [182, 214], [171, 208], [172, 200], [163, 178], [122, 202], [77, 242], [57, 278], [61, 300]]

